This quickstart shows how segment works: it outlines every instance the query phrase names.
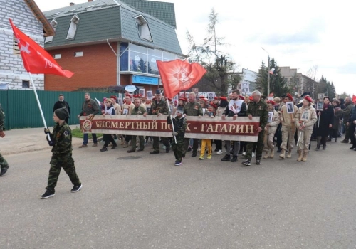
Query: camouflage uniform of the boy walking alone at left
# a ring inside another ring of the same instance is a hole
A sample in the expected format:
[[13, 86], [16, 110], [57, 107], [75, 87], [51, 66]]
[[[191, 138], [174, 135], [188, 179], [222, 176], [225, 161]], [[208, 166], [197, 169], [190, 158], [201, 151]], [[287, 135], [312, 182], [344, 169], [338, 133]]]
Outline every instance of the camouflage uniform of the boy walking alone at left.
[[61, 168], [66, 171], [73, 185], [80, 185], [78, 175], [75, 173], [72, 157], [72, 133], [66, 122], [56, 123], [53, 133], [50, 134], [54, 145], [52, 148], [51, 169], [49, 170], [48, 185], [46, 189], [53, 191], [57, 185]]

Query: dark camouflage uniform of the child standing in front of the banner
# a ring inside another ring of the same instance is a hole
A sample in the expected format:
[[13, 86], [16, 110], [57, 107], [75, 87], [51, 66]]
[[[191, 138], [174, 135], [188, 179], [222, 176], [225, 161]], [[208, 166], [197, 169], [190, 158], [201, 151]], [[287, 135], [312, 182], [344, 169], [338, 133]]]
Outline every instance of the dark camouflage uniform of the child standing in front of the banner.
[[[167, 123], [172, 124], [171, 117], [167, 116]], [[177, 143], [174, 141], [174, 137], [172, 139], [172, 149], [174, 152], [174, 156], [176, 160], [181, 162], [182, 161], [182, 154], [183, 154], [183, 144], [184, 144], [184, 134], [185, 130], [187, 129], [187, 119], [185, 117], [174, 117], [173, 119], [174, 131], [177, 132]]]

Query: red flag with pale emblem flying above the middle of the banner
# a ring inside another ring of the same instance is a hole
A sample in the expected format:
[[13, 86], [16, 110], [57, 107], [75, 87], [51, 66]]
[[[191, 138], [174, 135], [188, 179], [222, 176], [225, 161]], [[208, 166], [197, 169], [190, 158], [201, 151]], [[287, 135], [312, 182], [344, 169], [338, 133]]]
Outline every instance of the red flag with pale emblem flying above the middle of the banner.
[[199, 63], [189, 63], [187, 60], [157, 60], [159, 74], [162, 78], [164, 96], [174, 97], [182, 90], [188, 90], [206, 73]]

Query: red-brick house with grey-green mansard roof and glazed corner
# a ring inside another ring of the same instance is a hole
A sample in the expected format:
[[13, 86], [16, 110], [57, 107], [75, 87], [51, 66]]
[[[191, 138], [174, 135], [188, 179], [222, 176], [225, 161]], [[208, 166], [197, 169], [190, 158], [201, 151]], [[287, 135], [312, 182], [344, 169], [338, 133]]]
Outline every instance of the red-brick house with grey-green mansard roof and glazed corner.
[[184, 58], [171, 3], [88, 1], [44, 14], [56, 30], [55, 36], [46, 38], [46, 51], [75, 73], [66, 80], [46, 75], [46, 90], [113, 85], [156, 90], [160, 82], [156, 60]]

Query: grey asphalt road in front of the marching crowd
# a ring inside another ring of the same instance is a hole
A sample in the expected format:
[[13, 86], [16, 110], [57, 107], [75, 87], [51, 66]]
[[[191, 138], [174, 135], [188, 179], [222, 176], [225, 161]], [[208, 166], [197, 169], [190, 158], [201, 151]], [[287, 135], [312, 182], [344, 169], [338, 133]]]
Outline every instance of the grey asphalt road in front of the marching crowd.
[[174, 166], [172, 152], [75, 147], [83, 189], [70, 193], [62, 171], [46, 200], [51, 152], [8, 155], [0, 248], [356, 248], [356, 152], [348, 147], [332, 142], [307, 163], [293, 153], [249, 167], [216, 155], [188, 154]]

